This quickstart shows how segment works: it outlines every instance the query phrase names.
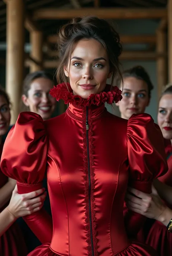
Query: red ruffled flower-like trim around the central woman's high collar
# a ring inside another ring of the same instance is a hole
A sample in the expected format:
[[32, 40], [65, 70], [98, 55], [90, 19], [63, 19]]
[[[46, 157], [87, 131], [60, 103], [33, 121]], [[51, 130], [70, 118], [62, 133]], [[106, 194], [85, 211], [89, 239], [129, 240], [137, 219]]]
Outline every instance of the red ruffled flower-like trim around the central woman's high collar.
[[[66, 86], [67, 85], [67, 86]], [[67, 87], [69, 90], [67, 90]], [[54, 86], [50, 90], [50, 95], [56, 98], [57, 101], [63, 99], [65, 104], [74, 103], [76, 106], [100, 106], [102, 103], [107, 102], [108, 104], [117, 103], [122, 99], [122, 91], [119, 90], [117, 86], [113, 86], [110, 91], [111, 86], [106, 85], [105, 92], [100, 94], [91, 94], [87, 99], [81, 98], [79, 95], [73, 95], [70, 84], [62, 83]]]

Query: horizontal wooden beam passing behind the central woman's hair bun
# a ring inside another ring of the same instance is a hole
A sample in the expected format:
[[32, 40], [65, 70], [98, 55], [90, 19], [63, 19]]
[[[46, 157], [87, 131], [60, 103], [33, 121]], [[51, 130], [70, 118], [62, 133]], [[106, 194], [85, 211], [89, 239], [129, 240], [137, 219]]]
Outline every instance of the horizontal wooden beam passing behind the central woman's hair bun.
[[[57, 36], [48, 36], [47, 41], [50, 44], [57, 43]], [[155, 35], [120, 35], [120, 41], [123, 44], [142, 44], [142, 43], [156, 43]]]

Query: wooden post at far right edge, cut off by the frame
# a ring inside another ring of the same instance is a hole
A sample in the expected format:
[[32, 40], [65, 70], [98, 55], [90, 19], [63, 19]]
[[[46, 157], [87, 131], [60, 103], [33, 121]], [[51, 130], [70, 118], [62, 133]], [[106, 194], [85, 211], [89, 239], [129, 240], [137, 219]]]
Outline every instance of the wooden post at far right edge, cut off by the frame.
[[172, 0], [168, 0], [168, 82], [172, 82]]

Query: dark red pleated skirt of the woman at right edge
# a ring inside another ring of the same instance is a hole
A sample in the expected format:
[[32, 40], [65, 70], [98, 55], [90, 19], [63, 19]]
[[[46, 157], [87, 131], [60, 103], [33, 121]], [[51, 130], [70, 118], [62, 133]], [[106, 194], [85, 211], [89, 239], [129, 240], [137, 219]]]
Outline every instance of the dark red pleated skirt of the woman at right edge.
[[151, 245], [158, 256], [172, 256], [172, 233], [160, 222], [155, 222], [148, 233], [146, 244]]

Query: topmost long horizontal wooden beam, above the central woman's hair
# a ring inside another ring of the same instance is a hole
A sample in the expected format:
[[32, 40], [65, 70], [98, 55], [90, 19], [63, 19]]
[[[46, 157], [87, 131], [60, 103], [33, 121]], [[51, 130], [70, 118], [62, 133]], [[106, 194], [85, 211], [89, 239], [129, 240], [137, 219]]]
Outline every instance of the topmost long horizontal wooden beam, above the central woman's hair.
[[58, 9], [42, 8], [33, 12], [33, 19], [73, 19], [82, 16], [97, 16], [102, 19], [163, 19], [167, 17], [165, 8], [81, 8]]

